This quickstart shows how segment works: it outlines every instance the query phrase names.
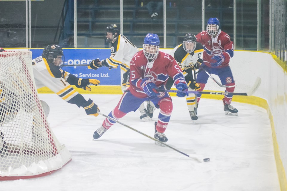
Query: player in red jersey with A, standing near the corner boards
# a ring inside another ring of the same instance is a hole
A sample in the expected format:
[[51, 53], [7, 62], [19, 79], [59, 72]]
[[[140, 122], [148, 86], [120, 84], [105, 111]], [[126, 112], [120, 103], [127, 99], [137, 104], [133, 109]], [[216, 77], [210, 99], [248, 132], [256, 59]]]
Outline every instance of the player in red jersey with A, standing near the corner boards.
[[[197, 41], [204, 47], [203, 64], [207, 72], [219, 76], [223, 85], [227, 87], [225, 92], [233, 93], [235, 81], [229, 66], [229, 60], [233, 57], [233, 42], [228, 34], [219, 29], [219, 20], [210, 18], [207, 21], [206, 30], [196, 35]], [[209, 76], [206, 72], [199, 69], [196, 81], [200, 84], [197, 91], [202, 91], [207, 83]], [[197, 94], [197, 102], [199, 102], [201, 94]], [[238, 110], [230, 105], [232, 95], [225, 95], [222, 99], [224, 111], [226, 115], [238, 115]]]

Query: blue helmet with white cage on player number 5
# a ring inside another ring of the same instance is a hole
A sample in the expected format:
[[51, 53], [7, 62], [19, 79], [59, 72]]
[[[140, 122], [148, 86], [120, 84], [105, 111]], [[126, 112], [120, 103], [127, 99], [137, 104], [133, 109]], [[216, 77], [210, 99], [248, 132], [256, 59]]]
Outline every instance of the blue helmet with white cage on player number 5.
[[148, 33], [144, 38], [144, 56], [148, 59], [153, 59], [158, 55], [159, 38], [157, 34]]

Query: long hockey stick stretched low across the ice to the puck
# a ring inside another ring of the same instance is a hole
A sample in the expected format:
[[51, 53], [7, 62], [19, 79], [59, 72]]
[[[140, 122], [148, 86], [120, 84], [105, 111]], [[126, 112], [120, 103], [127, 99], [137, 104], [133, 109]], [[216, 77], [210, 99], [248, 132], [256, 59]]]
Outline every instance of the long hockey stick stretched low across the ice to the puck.
[[[185, 156], [187, 156], [187, 157], [189, 157], [189, 158], [191, 158], [191, 159], [193, 159], [193, 160], [195, 160], [195, 161], [197, 161], [197, 162], [199, 162], [199, 163], [202, 162], [199, 158], [197, 158], [197, 157], [192, 157], [192, 156], [190, 156], [190, 155], [187, 155], [187, 154], [181, 152], [180, 150], [177, 150], [177, 149], [175, 149], [175, 148], [169, 146], [168, 144], [165, 144], [165, 143], [163, 143], [163, 142], [161, 142], [161, 141], [159, 141], [159, 140], [157, 140], [157, 139], [155, 139], [155, 138], [153, 138], [153, 137], [151, 137], [151, 136], [149, 136], [149, 135], [146, 135], [146, 134], [142, 133], [141, 131], [138, 131], [138, 130], [136, 130], [136, 129], [134, 129], [134, 128], [132, 128], [132, 127], [130, 127], [130, 126], [128, 126], [128, 125], [126, 125], [126, 124], [124, 124], [124, 123], [122, 123], [122, 122], [120, 122], [120, 121], [118, 121], [118, 120], [116, 120], [116, 119], [114, 119], [114, 118], [112, 118], [112, 117], [110, 117], [110, 116], [108, 116], [108, 115], [105, 115], [105, 114], [103, 114], [103, 113], [101, 113], [101, 112], [98, 112], [98, 114], [99, 114], [99, 115], [102, 115], [102, 116], [104, 116], [104, 117], [106, 117], [106, 118], [108, 118], [108, 119], [110, 119], [110, 120], [112, 120], [112, 121], [115, 121], [115, 122], [117, 122], [117, 123], [119, 123], [119, 124], [121, 124], [121, 125], [123, 125], [123, 126], [129, 128], [129, 129], [131, 129], [131, 130], [137, 132], [137, 133], [140, 133], [140, 134], [146, 136], [147, 138], [150, 138], [150, 139], [152, 139], [152, 140], [154, 140], [154, 141], [157, 141], [157, 142], [159, 142], [160, 144], [163, 144], [163, 145], [165, 145], [165, 146], [167, 146], [167, 147], [170, 147], [171, 149], [177, 151], [178, 153], [181, 153], [181, 154], [183, 154], [183, 155], [185, 155]], [[204, 162], [208, 162], [208, 161], [210, 161], [210, 159], [209, 159], [209, 158], [204, 158], [203, 161], [204, 161]]]

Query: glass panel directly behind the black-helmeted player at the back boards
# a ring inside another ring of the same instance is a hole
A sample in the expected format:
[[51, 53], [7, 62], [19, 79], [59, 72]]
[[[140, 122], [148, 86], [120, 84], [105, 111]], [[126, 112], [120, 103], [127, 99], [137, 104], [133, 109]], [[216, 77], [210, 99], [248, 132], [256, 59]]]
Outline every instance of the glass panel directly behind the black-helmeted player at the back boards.
[[110, 24], [120, 26], [120, 1], [77, 1], [78, 48], [109, 48], [104, 35]]

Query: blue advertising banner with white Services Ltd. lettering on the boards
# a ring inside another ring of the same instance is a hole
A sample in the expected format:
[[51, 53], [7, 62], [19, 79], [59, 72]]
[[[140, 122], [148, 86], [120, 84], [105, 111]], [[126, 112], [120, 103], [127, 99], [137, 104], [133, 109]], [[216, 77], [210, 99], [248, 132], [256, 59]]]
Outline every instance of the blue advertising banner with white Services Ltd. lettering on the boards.
[[[43, 49], [30, 49], [32, 51], [32, 59], [41, 56]], [[92, 78], [100, 80], [100, 85], [120, 85], [120, 67], [109, 70], [107, 67], [101, 67], [97, 70], [88, 69], [87, 65], [91, 60], [99, 58], [100, 60], [109, 58], [110, 49], [63, 49], [65, 66], [63, 70], [75, 75], [78, 78]]]

